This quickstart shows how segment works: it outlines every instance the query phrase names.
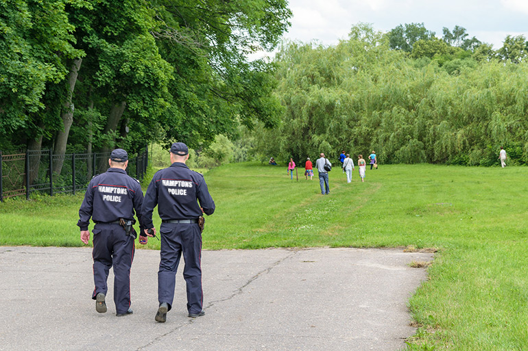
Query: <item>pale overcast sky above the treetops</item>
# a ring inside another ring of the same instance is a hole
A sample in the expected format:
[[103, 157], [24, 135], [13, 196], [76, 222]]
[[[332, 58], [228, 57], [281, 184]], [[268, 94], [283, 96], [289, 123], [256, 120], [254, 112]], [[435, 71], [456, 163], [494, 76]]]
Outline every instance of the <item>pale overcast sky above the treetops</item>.
[[438, 38], [442, 27], [459, 25], [494, 49], [508, 34], [528, 37], [528, 0], [289, 0], [289, 8], [293, 17], [284, 37], [302, 42], [337, 44], [359, 22], [383, 32], [424, 23]]

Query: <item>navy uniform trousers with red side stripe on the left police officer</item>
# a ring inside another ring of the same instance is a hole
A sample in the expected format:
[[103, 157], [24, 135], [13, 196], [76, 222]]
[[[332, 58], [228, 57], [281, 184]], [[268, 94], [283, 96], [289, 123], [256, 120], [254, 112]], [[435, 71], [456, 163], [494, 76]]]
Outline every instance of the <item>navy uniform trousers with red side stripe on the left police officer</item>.
[[110, 267], [114, 267], [114, 302], [116, 313], [126, 313], [130, 307], [130, 268], [134, 259], [134, 237], [126, 235], [119, 224], [95, 224], [93, 228], [93, 281], [92, 298], [106, 295], [106, 280]]

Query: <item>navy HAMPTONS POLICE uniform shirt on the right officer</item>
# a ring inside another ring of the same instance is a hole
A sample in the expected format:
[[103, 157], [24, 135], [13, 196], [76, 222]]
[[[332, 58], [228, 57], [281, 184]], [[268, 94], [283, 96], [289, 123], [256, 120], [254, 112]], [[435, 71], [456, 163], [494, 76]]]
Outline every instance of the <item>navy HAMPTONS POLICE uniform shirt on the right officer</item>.
[[[200, 201], [198, 205], [197, 201]], [[186, 164], [174, 162], [169, 168], [158, 170], [145, 192], [141, 208], [145, 228], [153, 228], [152, 211], [158, 205], [162, 220], [187, 220], [215, 211], [215, 202], [207, 189], [204, 176], [189, 170]]]

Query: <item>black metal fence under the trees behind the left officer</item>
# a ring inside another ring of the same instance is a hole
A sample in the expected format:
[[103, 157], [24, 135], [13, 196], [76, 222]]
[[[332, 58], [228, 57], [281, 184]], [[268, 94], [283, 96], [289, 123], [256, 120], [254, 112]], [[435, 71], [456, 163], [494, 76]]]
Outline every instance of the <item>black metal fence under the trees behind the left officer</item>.
[[[51, 150], [3, 155], [0, 151], [0, 201], [33, 193], [60, 194], [86, 190], [93, 176], [106, 172], [110, 153], [53, 155]], [[143, 179], [147, 171], [148, 148], [129, 155], [127, 173]]]

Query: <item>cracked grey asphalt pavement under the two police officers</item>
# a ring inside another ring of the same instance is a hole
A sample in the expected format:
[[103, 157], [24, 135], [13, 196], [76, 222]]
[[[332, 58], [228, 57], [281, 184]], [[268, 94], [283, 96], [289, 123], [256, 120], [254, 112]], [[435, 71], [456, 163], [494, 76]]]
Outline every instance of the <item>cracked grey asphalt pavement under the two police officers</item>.
[[[407, 300], [432, 254], [310, 248], [202, 252], [204, 310], [187, 317], [182, 264], [167, 322], [159, 252], [136, 250], [133, 315], [97, 313], [91, 248], [0, 246], [0, 350], [401, 350]], [[113, 275], [108, 278], [109, 291]]]

